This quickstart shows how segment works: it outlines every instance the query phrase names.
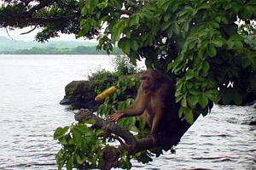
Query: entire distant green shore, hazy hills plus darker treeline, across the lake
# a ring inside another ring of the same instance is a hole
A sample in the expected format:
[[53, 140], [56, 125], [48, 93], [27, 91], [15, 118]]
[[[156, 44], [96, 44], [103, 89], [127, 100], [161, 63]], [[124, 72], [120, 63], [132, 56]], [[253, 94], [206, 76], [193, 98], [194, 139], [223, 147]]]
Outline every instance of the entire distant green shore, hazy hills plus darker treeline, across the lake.
[[[0, 54], [106, 54], [96, 50], [96, 42], [49, 41], [45, 43], [15, 41], [0, 37]], [[112, 54], [122, 54], [113, 48]]]

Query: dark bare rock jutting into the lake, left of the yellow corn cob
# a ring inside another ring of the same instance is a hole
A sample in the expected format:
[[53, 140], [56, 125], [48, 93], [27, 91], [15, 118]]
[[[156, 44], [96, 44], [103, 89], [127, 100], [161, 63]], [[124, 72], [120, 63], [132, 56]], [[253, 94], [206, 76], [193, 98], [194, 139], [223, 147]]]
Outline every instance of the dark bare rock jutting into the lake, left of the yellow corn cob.
[[95, 101], [96, 83], [94, 81], [73, 81], [65, 87], [61, 105], [71, 105], [72, 109], [96, 109], [101, 103]]

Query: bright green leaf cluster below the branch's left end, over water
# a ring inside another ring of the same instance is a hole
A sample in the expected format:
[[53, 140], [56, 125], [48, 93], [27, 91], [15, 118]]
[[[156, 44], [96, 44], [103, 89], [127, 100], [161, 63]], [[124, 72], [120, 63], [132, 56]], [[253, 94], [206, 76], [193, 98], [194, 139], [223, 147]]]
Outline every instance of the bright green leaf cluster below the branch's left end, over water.
[[67, 169], [103, 166], [102, 149], [108, 147], [108, 144], [102, 138], [103, 131], [91, 129], [88, 123], [94, 124], [91, 120], [85, 120], [84, 123], [73, 123], [70, 127], [58, 127], [55, 130], [54, 139], [62, 145], [55, 156], [58, 169], [64, 166]]

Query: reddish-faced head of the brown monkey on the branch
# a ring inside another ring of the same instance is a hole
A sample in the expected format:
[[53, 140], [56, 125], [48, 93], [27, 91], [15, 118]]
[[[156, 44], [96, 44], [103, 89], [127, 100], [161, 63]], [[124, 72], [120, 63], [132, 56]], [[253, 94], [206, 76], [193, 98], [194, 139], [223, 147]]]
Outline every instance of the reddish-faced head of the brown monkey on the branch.
[[160, 83], [161, 75], [159, 72], [154, 70], [143, 71], [141, 75], [141, 86], [145, 92], [150, 92], [157, 88]]

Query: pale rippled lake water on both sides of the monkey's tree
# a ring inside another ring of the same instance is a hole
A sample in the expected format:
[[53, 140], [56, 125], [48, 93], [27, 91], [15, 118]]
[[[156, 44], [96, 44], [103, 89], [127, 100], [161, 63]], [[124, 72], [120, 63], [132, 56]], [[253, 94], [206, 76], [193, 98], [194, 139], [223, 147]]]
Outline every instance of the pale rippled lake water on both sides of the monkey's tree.
[[[0, 55], [0, 169], [56, 169], [61, 145], [56, 127], [74, 122], [59, 105], [64, 88], [99, 68], [112, 71], [101, 55]], [[176, 147], [133, 169], [256, 169], [256, 126], [252, 106], [215, 105], [200, 117]]]

